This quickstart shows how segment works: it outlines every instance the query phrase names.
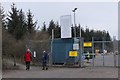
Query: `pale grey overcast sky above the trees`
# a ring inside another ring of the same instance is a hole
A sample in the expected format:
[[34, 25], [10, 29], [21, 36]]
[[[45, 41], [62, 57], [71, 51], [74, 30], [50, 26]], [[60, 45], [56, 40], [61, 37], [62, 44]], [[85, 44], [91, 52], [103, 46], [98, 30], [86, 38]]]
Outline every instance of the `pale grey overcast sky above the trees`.
[[[12, 3], [2, 3], [5, 11], [11, 11]], [[18, 9], [26, 13], [28, 9], [34, 14], [38, 25], [43, 22], [48, 25], [50, 20], [60, 22], [60, 16], [72, 15], [72, 9], [77, 7], [76, 24], [81, 24], [95, 30], [109, 31], [111, 37], [118, 37], [118, 3], [117, 2], [16, 2]]]

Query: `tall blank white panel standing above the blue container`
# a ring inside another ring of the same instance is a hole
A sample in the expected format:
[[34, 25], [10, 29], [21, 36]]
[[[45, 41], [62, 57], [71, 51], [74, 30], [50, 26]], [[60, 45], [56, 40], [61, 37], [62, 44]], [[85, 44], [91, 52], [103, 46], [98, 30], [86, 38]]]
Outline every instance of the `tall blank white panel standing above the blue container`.
[[71, 15], [64, 15], [60, 17], [61, 38], [71, 38]]

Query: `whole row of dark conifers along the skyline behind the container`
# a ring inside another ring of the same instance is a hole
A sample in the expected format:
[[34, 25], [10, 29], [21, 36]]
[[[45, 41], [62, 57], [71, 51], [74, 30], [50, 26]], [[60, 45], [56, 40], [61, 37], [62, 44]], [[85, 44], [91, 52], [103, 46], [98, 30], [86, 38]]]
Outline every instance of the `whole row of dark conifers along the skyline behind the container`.
[[[17, 9], [15, 4], [12, 4], [11, 11], [9, 11], [9, 14], [7, 14], [7, 16], [4, 14], [4, 9], [1, 10], [3, 28], [7, 30], [7, 32], [9, 32], [11, 35], [13, 35], [16, 40], [22, 39], [24, 35], [30, 36], [33, 33], [37, 32], [46, 32], [46, 34], [49, 34], [49, 37], [51, 37], [52, 29], [54, 29], [55, 38], [61, 37], [61, 26], [58, 22], [55, 22], [53, 20], [49, 22], [48, 26], [46, 26], [45, 22], [43, 22], [43, 26], [40, 26], [42, 29], [38, 31], [37, 29], [39, 26], [36, 26], [37, 21], [33, 21], [34, 15], [30, 9], [28, 10], [27, 15], [25, 15], [22, 9]], [[85, 40], [89, 41], [92, 39], [92, 37], [94, 37], [95, 40], [103, 40], [103, 37], [104, 40], [111, 40], [108, 31], [93, 30], [89, 29], [87, 26], [84, 29], [80, 24], [75, 27], [71, 26], [72, 37], [74, 37], [74, 28], [76, 29], [76, 37], [80, 36], [80, 27], [81, 36]]]

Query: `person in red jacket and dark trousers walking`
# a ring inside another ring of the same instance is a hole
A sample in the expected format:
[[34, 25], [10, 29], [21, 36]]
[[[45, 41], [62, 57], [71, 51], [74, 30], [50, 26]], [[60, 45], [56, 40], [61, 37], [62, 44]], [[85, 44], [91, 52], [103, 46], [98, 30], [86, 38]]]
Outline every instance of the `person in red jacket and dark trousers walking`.
[[26, 70], [30, 69], [30, 62], [32, 61], [30, 50], [28, 49], [24, 55], [24, 60], [26, 62]]

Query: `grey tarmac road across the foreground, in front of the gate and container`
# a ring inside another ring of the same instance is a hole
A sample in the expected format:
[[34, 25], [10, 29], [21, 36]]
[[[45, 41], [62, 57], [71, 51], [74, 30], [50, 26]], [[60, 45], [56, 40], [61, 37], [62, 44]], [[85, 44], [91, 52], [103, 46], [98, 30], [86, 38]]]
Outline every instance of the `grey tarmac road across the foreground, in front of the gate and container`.
[[113, 67], [87, 67], [87, 68], [32, 68], [30, 71], [9, 70], [3, 72], [3, 78], [117, 78], [118, 69]]

